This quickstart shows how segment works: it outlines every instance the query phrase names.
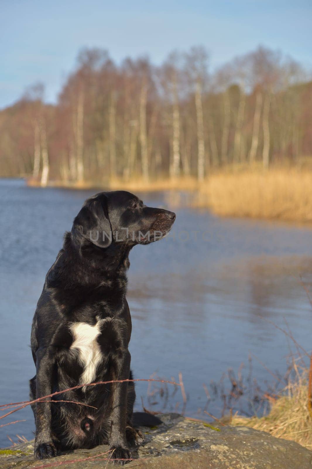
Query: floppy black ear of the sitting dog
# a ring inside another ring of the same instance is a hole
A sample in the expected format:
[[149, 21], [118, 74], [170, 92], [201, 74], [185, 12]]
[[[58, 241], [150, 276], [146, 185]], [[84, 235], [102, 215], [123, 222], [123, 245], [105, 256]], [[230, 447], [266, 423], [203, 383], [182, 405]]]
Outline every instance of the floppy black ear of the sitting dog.
[[99, 248], [107, 248], [111, 244], [112, 230], [106, 196], [86, 201], [74, 219], [72, 233], [82, 235]]

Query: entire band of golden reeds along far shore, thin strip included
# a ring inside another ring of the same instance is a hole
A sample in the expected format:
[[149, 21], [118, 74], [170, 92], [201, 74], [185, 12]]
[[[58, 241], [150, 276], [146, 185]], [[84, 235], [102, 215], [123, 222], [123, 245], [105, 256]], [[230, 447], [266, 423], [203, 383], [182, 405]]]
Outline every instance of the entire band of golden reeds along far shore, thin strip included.
[[[39, 180], [27, 179], [29, 186], [41, 186]], [[131, 180], [111, 178], [105, 182], [50, 181], [47, 186], [67, 189], [129, 190], [130, 192], [186, 192], [183, 198], [194, 208], [208, 209], [220, 216], [312, 222], [312, 167], [298, 166], [229, 166], [211, 172], [199, 182], [195, 177], [144, 180], [138, 175]], [[179, 205], [180, 197], [169, 196]]]

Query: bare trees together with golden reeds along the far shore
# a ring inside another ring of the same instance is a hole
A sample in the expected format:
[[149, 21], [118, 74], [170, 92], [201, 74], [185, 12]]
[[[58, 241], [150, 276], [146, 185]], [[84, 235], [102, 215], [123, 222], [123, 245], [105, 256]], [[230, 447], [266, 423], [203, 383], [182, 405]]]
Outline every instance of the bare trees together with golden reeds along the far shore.
[[56, 103], [35, 83], [0, 110], [0, 175], [169, 190], [173, 203], [185, 191], [222, 216], [311, 222], [311, 121], [311, 75], [263, 46], [215, 71], [201, 46], [160, 65], [87, 48]]

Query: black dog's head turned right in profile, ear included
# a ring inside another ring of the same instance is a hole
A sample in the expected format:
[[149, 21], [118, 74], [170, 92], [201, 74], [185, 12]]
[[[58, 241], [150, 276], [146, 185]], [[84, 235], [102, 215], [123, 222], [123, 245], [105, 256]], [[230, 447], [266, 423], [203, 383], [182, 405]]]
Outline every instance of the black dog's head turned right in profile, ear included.
[[162, 239], [175, 219], [175, 213], [147, 207], [130, 192], [100, 192], [85, 201], [72, 233], [100, 248], [111, 243], [132, 247]]

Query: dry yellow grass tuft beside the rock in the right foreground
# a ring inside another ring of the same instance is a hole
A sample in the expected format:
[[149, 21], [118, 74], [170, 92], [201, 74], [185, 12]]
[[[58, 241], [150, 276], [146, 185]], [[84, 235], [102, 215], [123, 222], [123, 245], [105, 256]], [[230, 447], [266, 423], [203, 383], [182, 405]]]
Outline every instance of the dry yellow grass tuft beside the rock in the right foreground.
[[308, 409], [308, 370], [288, 384], [264, 417], [234, 416], [232, 425], [267, 431], [277, 438], [293, 440], [312, 449], [312, 418]]

